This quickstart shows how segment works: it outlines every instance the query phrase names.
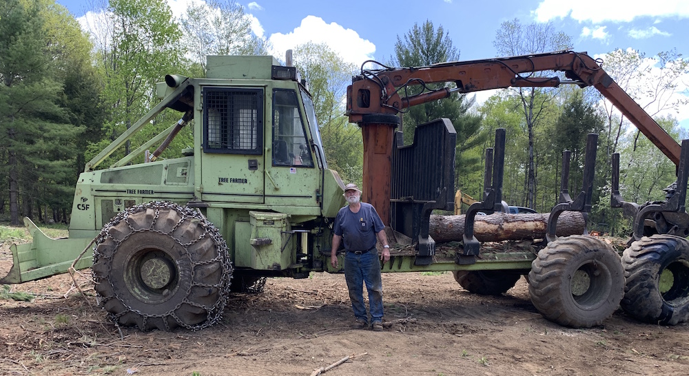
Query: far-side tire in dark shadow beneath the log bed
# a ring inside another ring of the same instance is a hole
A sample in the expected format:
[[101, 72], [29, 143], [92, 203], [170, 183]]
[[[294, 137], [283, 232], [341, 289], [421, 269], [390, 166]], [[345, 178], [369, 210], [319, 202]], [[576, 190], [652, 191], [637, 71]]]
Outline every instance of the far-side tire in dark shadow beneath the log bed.
[[514, 271], [453, 271], [455, 281], [478, 295], [500, 295], [514, 287], [521, 275]]

